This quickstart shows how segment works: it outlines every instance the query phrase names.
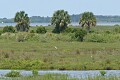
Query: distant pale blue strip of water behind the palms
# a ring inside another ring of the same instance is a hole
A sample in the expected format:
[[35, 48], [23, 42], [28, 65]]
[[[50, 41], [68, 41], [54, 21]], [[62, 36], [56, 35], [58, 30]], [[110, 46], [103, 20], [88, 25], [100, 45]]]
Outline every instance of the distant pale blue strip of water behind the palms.
[[[48, 26], [48, 25], [50, 25], [51, 23], [31, 23], [30, 25], [31, 26], [40, 26], [40, 25], [42, 25], [42, 26]], [[120, 25], [120, 22], [98, 22], [97, 23], [97, 25], [111, 25], [111, 26], [113, 26], [113, 25], [116, 25], [116, 24], [118, 24], [118, 25]], [[4, 27], [4, 26], [15, 26], [16, 25], [16, 23], [0, 23], [0, 27]], [[76, 22], [74, 22], [74, 23], [71, 23], [71, 25], [73, 25], [73, 26], [79, 26], [79, 24], [78, 23], [76, 23]]]

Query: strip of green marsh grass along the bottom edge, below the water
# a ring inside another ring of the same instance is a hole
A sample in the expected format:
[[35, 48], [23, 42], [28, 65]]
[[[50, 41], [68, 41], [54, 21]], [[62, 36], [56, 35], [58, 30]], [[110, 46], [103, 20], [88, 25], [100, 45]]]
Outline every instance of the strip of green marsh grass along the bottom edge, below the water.
[[94, 76], [84, 78], [69, 77], [66, 74], [44, 74], [38, 76], [21, 76], [21, 77], [6, 77], [0, 78], [1, 80], [119, 80], [118, 76]]

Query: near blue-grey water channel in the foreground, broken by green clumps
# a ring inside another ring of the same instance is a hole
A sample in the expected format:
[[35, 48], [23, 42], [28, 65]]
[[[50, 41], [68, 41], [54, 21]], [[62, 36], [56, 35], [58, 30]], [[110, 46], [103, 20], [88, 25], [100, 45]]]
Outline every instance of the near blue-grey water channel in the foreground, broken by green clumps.
[[[11, 70], [0, 70], [0, 77], [4, 77], [5, 74], [9, 73]], [[21, 75], [29, 76], [32, 75], [32, 71], [18, 70]], [[120, 76], [120, 70], [105, 70], [105, 76]], [[100, 70], [90, 70], [90, 71], [59, 71], [59, 70], [47, 70], [39, 71], [40, 75], [48, 73], [57, 73], [57, 74], [67, 74], [71, 78], [87, 78], [88, 76], [94, 77], [100, 75]]]

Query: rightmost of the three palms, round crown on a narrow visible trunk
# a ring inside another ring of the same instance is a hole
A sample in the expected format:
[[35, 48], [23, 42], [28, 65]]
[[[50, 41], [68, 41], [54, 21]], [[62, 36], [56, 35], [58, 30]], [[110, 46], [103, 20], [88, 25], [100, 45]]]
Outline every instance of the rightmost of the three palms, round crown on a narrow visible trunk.
[[90, 32], [91, 26], [96, 26], [96, 17], [92, 12], [84, 12], [80, 18], [79, 24], [81, 27], [86, 27], [88, 32]]

